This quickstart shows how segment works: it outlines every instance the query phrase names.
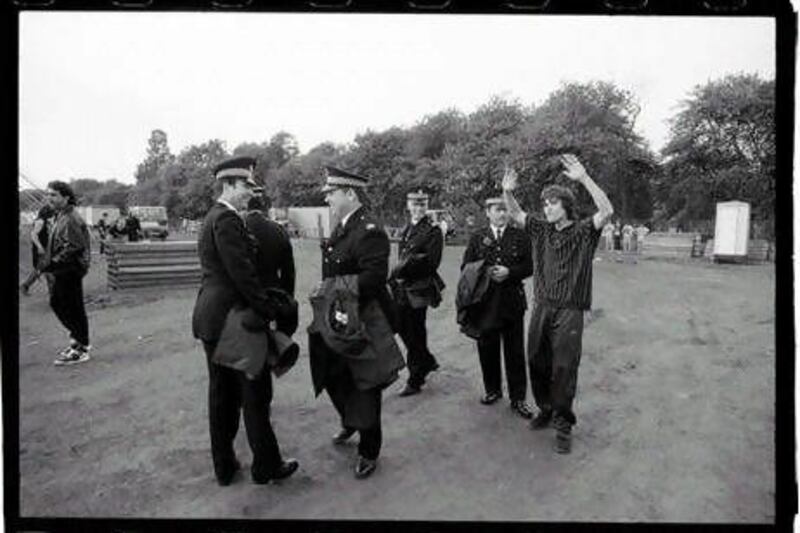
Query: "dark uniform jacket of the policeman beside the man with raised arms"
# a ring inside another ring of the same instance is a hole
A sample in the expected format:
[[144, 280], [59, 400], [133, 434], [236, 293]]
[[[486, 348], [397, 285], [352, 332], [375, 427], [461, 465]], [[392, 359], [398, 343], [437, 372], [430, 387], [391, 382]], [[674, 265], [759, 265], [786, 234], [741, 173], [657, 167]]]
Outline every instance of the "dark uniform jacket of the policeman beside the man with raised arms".
[[498, 242], [489, 226], [481, 228], [470, 237], [461, 268], [479, 259], [485, 260], [486, 268], [503, 265], [509, 270], [502, 283], [489, 283], [480, 305], [478, 320], [482, 329], [500, 328], [524, 315], [528, 307], [522, 281], [533, 273], [530, 237], [523, 230], [507, 225]]

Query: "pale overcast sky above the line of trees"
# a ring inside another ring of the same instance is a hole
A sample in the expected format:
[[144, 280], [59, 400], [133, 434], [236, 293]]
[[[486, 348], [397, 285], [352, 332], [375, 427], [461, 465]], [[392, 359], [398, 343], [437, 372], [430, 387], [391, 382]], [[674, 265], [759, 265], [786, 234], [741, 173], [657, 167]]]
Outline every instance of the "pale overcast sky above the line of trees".
[[150, 131], [173, 153], [280, 130], [305, 152], [492, 95], [540, 104], [607, 80], [642, 105], [654, 149], [689, 91], [775, 72], [772, 19], [43, 13], [20, 21], [20, 169], [132, 183]]

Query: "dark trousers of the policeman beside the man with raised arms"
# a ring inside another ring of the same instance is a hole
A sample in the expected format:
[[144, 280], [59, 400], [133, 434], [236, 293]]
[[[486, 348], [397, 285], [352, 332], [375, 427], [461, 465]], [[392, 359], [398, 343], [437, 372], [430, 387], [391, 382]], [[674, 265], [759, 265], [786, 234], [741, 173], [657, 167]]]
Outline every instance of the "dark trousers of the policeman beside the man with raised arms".
[[487, 393], [502, 393], [503, 390], [500, 378], [500, 341], [502, 339], [508, 397], [512, 401], [525, 399], [528, 380], [525, 375], [523, 334], [522, 316], [515, 318], [501, 329], [492, 329], [481, 333], [481, 337], [478, 339], [478, 356], [481, 361], [483, 386]]

